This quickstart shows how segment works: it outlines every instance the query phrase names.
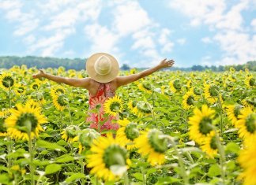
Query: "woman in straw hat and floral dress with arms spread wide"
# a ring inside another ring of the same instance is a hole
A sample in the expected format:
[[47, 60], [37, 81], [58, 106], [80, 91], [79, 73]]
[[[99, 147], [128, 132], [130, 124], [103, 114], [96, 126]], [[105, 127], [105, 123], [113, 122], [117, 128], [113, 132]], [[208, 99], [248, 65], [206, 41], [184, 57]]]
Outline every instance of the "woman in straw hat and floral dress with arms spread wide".
[[92, 56], [88, 57], [88, 60], [86, 61], [86, 71], [89, 76], [87, 78], [73, 79], [54, 76], [43, 72], [42, 69], [32, 77], [44, 77], [57, 83], [65, 83], [73, 87], [83, 87], [87, 89], [89, 92], [89, 109], [99, 109], [98, 113], [88, 113], [87, 121], [91, 123], [90, 128], [95, 128], [100, 131], [117, 130], [119, 125], [111, 123], [111, 120], [118, 120], [119, 117], [113, 116], [107, 117], [107, 120], [104, 121], [105, 123], [98, 127], [99, 120], [104, 120], [104, 102], [107, 98], [115, 96], [115, 91], [119, 87], [132, 83], [145, 76], [149, 76], [160, 68], [171, 67], [173, 64], [173, 60], [168, 61], [165, 58], [163, 61], [160, 61], [159, 65], [146, 69], [143, 72], [138, 72], [137, 74], [129, 76], [118, 76], [119, 63], [116, 61], [115, 57], [110, 54], [97, 53], [92, 54]]

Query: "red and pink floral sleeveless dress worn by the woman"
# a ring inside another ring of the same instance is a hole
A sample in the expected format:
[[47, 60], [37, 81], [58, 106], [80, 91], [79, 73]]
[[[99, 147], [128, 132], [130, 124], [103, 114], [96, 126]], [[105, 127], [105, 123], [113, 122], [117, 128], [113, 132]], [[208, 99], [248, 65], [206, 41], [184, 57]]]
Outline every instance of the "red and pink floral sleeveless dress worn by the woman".
[[[112, 120], [119, 120], [119, 116], [113, 117], [109, 115], [104, 116], [104, 102], [111, 97], [115, 96], [115, 92], [111, 90], [110, 83], [100, 83], [100, 87], [95, 96], [89, 94], [89, 110], [90, 109], [100, 109], [98, 113], [88, 113], [86, 121], [90, 123], [90, 128], [94, 128], [98, 131], [98, 122], [106, 121], [103, 125], [100, 125], [100, 132], [106, 130], [118, 130], [119, 124], [113, 123]], [[106, 120], [107, 119], [107, 120]]]

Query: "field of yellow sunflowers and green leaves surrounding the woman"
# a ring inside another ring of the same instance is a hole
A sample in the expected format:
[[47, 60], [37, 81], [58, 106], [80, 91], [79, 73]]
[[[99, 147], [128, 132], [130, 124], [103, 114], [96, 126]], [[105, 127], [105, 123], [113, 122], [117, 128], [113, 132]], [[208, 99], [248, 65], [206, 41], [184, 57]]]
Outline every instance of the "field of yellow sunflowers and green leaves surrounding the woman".
[[0, 69], [0, 184], [256, 184], [254, 72], [155, 72], [107, 100], [119, 130], [100, 133], [88, 91], [36, 72]]

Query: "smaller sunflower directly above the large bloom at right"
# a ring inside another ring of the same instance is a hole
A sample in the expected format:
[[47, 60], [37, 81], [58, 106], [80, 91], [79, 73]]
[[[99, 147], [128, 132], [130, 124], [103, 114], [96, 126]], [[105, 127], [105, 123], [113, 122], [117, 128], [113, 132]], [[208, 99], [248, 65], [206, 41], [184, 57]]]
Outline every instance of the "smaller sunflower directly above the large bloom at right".
[[[207, 84], [205, 83], [205, 98], [208, 102], [211, 104], [218, 101], [218, 95], [219, 95], [219, 88], [216, 85], [213, 84]], [[221, 101], [221, 97], [220, 97]]]

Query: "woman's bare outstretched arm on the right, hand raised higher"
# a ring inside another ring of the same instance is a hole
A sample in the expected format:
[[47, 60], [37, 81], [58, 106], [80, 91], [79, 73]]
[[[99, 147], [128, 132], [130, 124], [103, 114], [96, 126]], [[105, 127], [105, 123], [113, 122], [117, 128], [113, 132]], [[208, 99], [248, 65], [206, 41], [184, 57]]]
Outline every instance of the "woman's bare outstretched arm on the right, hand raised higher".
[[132, 83], [134, 81], [137, 81], [141, 78], [144, 78], [145, 76], [151, 75], [153, 72], [158, 71], [160, 68], [168, 68], [171, 67], [175, 61], [173, 60], [167, 60], [166, 58], [163, 61], [160, 61], [159, 65], [156, 65], [153, 68], [146, 69], [145, 71], [138, 72], [137, 74], [134, 75], [129, 75], [129, 76], [118, 76], [116, 78], [116, 83], [117, 87], [126, 85], [128, 83]]

